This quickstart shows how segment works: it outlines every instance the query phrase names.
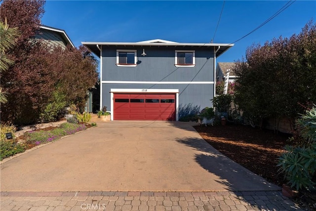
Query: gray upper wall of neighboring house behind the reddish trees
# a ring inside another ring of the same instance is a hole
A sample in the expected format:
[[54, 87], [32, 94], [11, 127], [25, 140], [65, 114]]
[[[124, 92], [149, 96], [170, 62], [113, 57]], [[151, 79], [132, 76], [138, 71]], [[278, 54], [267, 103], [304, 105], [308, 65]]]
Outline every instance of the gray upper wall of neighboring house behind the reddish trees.
[[60, 46], [62, 49], [66, 48], [67, 42], [56, 32], [46, 29], [40, 29], [40, 34], [35, 36], [36, 39], [42, 39], [48, 46]]

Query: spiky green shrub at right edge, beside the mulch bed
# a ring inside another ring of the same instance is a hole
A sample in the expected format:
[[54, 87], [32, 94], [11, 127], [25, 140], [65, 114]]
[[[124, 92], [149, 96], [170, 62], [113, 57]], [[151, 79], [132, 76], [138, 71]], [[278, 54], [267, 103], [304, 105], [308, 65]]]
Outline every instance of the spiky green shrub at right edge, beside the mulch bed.
[[[277, 166], [284, 172], [291, 187], [296, 190], [310, 189], [316, 184], [313, 181], [316, 173], [316, 108], [306, 111], [296, 121], [296, 127], [303, 140], [301, 146], [286, 146], [286, 153], [279, 158]], [[294, 138], [295, 139], [295, 138]], [[305, 141], [304, 141], [305, 140]], [[293, 141], [291, 139], [291, 141]], [[296, 140], [294, 140], [296, 142]]]

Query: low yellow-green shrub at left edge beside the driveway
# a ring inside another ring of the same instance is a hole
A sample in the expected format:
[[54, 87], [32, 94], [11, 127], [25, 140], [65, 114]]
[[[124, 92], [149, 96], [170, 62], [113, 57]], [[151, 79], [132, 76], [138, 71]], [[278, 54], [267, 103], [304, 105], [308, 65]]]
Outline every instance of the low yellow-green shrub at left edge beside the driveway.
[[0, 140], [0, 160], [25, 151], [23, 144], [14, 140]]

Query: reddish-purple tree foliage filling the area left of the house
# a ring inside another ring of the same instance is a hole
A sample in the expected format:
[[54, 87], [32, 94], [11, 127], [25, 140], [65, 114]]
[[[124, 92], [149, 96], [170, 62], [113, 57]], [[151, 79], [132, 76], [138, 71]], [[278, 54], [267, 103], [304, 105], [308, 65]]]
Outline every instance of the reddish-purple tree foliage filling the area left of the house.
[[[45, 1], [4, 0], [4, 16], [22, 35], [10, 50], [14, 66], [1, 74], [8, 103], [1, 107], [1, 121], [16, 125], [55, 120], [66, 105], [84, 107], [87, 90], [97, 80], [97, 62], [82, 46], [47, 46], [34, 39], [40, 27]], [[58, 108], [58, 109], [56, 109]]]

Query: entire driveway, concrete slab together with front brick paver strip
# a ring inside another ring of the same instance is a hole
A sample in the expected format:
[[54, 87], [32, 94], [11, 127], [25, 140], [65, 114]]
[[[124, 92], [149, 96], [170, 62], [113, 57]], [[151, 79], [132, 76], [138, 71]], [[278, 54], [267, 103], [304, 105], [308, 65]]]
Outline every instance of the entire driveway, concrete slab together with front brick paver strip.
[[1, 167], [0, 210], [296, 210], [188, 123], [113, 121]]

